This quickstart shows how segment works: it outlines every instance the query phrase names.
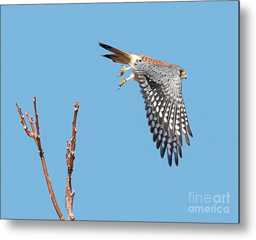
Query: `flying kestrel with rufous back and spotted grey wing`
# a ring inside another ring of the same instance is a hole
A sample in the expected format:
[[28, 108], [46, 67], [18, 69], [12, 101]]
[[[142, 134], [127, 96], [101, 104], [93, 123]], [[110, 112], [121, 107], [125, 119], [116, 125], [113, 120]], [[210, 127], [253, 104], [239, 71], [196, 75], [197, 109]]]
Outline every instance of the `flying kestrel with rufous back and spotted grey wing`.
[[[115, 63], [130, 65], [128, 68], [123, 65], [120, 70], [118, 76], [122, 76], [123, 81], [118, 89], [130, 79], [139, 83], [156, 148], [160, 148], [161, 158], [167, 152], [169, 166], [174, 155], [174, 162], [178, 166], [178, 153], [182, 158], [182, 134], [188, 146], [188, 134], [193, 137], [181, 93], [181, 80], [186, 79], [186, 71], [178, 65], [127, 53], [100, 42], [99, 44], [113, 53], [101, 56], [110, 58]], [[124, 73], [129, 69], [132, 69], [132, 73], [125, 79]]]

